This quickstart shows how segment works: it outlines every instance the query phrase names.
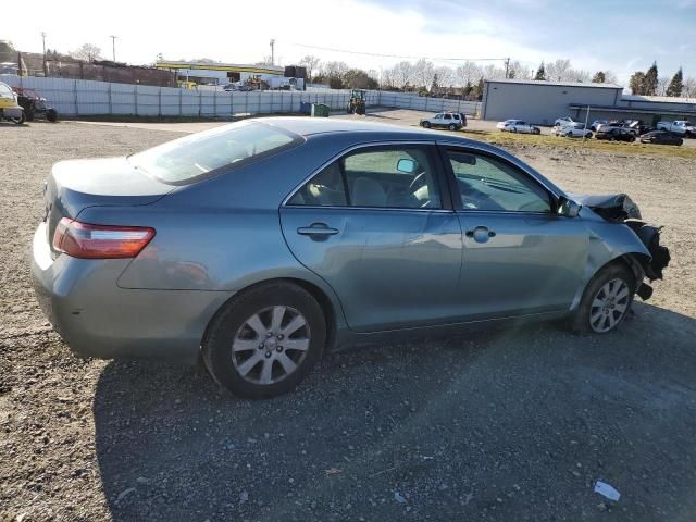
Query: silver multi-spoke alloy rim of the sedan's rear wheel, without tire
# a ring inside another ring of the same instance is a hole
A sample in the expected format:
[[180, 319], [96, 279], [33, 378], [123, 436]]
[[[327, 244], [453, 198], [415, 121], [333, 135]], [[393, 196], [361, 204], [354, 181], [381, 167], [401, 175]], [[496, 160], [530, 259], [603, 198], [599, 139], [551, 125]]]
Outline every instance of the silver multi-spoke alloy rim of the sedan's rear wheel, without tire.
[[310, 346], [307, 319], [284, 306], [265, 308], [248, 318], [232, 344], [232, 360], [239, 376], [269, 385], [293, 374]]

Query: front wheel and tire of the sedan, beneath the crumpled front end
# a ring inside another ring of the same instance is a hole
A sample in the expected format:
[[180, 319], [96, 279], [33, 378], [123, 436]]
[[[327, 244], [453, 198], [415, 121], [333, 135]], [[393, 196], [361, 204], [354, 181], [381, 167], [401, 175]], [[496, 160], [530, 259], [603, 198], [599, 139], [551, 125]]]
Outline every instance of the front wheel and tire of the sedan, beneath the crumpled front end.
[[[611, 263], [601, 269], [583, 293], [572, 330], [585, 334], [608, 334], [616, 330], [631, 311], [635, 286], [635, 277], [627, 266]], [[613, 298], [610, 297], [612, 290]], [[606, 313], [599, 303], [608, 307]]]

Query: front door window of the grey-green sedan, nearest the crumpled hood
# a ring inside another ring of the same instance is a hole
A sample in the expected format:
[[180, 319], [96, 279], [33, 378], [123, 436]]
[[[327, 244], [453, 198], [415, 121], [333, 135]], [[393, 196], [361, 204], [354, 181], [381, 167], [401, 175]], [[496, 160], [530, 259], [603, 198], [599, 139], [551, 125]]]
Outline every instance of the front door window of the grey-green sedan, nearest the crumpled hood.
[[507, 162], [457, 149], [447, 151], [462, 210], [550, 212], [549, 194]]

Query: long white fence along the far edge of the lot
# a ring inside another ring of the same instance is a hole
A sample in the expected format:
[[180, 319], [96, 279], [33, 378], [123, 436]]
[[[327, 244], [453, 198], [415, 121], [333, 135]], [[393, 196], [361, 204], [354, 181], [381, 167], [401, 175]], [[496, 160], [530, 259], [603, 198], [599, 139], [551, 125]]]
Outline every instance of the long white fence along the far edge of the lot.
[[[85, 79], [0, 75], [0, 82], [26, 87], [47, 98], [62, 115], [138, 115], [231, 117], [237, 114], [298, 113], [301, 102], [325, 103], [332, 110], [345, 109], [348, 90], [286, 91], [268, 90], [224, 92], [188, 90], [175, 87], [113, 84]], [[457, 111], [475, 114], [481, 103], [425, 98], [402, 92], [368, 91], [368, 105]]]

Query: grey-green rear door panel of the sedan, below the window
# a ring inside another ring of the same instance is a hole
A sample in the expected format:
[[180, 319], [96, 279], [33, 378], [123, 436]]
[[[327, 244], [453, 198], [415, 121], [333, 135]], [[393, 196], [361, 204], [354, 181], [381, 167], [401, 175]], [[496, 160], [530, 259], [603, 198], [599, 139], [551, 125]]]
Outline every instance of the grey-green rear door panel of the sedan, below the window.
[[[462, 233], [453, 212], [283, 207], [281, 223], [295, 257], [336, 291], [352, 330], [460, 319]], [[308, 235], [308, 227], [332, 233]]]

